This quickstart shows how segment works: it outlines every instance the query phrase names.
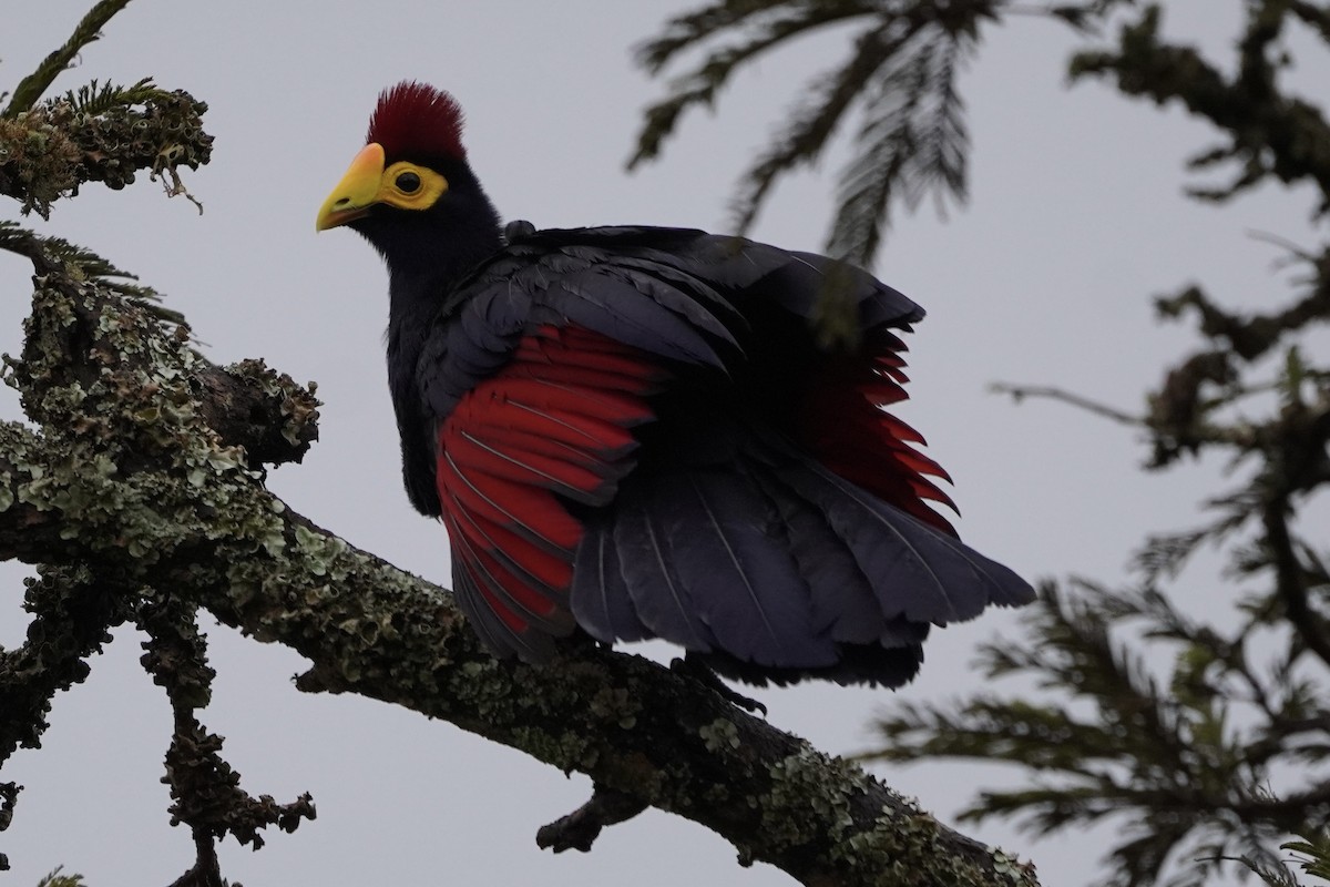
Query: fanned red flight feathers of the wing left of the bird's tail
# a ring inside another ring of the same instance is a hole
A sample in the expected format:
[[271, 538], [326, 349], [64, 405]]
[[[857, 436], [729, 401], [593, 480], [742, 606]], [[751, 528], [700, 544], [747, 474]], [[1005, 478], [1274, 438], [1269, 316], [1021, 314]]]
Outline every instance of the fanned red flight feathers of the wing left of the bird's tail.
[[[435, 479], [458, 568], [515, 636], [567, 634], [583, 527], [568, 501], [608, 503], [653, 419], [654, 358], [581, 327], [544, 326], [438, 427]], [[516, 649], [520, 641], [512, 641]]]

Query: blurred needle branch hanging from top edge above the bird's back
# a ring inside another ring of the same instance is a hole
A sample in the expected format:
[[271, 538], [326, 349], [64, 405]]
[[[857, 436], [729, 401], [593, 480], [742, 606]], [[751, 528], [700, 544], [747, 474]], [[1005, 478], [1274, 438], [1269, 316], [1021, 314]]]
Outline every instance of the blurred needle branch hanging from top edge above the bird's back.
[[[1059, 8], [1060, 9], [1060, 8]], [[998, 0], [718, 0], [669, 21], [638, 48], [638, 63], [660, 73], [681, 53], [726, 35], [746, 35], [713, 48], [665, 98], [645, 112], [628, 168], [657, 157], [682, 113], [710, 106], [743, 65], [791, 39], [829, 24], [862, 21], [849, 57], [814, 77], [790, 120], [741, 176], [730, 201], [730, 226], [746, 233], [774, 185], [814, 164], [845, 116], [863, 108], [855, 156], [841, 176], [829, 251], [870, 265], [892, 205], [914, 209], [923, 194], [939, 206], [966, 198], [968, 140], [955, 78], [978, 41], [980, 24], [1004, 12]], [[1059, 16], [1045, 9], [1044, 15]], [[1084, 16], [1092, 15], [1085, 11]]]

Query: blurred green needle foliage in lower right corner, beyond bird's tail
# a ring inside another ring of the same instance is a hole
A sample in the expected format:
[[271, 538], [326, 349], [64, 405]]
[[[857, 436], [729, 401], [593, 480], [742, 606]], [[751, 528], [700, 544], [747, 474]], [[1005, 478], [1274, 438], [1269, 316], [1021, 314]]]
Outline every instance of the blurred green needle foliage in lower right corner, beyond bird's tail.
[[[878, 723], [882, 747], [864, 757], [1028, 769], [1035, 785], [980, 793], [962, 819], [1015, 818], [1049, 834], [1120, 817], [1107, 882], [1116, 887], [1198, 886], [1233, 854], [1267, 862], [1281, 830], [1330, 813], [1330, 775], [1307, 765], [1321, 755], [1290, 742], [1327, 735], [1314, 690], [1287, 676], [1262, 682], [1241, 636], [1220, 637], [1150, 590], [1047, 586], [1035, 608], [1032, 637], [984, 645], [980, 665], [988, 678], [1033, 678], [1043, 699], [983, 693], [959, 705], [899, 705]], [[1177, 649], [1166, 681], [1115, 640], [1130, 624]], [[1264, 726], [1234, 726], [1245, 721], [1229, 678], [1264, 697]], [[1290, 766], [1303, 774], [1301, 790], [1271, 797], [1271, 774]], [[1196, 858], [1208, 862], [1162, 876], [1169, 859]]]

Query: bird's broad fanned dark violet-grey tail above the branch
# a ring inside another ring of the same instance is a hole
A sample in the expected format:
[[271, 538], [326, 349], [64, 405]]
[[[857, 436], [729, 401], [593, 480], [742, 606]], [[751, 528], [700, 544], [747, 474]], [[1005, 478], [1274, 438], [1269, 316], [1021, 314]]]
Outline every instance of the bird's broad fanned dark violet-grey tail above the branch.
[[947, 529], [763, 442], [625, 481], [585, 527], [571, 602], [602, 641], [661, 637], [739, 678], [896, 686], [930, 625], [1032, 596]]

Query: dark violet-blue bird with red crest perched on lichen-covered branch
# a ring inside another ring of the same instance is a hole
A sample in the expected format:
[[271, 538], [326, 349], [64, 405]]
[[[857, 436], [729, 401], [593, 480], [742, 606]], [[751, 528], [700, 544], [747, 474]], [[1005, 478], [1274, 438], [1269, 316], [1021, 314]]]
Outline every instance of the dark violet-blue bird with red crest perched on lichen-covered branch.
[[735, 235], [504, 223], [462, 132], [452, 94], [383, 90], [315, 227], [386, 262], [406, 492], [495, 656], [662, 638], [751, 684], [895, 688], [930, 628], [1033, 598], [887, 410], [918, 305]]

